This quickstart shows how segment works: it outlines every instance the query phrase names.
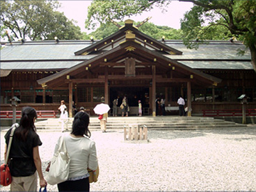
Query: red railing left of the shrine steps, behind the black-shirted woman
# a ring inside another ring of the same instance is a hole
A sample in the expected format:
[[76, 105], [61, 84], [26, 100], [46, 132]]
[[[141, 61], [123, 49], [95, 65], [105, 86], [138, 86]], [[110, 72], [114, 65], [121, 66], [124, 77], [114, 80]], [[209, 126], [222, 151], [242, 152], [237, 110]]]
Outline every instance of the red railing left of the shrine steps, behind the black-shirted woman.
[[[56, 118], [56, 114], [58, 111], [54, 110], [45, 110], [45, 111], [36, 111], [38, 114], [38, 118]], [[21, 111], [16, 111], [16, 118], [19, 119], [22, 116]], [[0, 111], [0, 118], [11, 119], [13, 118], [13, 111]]]

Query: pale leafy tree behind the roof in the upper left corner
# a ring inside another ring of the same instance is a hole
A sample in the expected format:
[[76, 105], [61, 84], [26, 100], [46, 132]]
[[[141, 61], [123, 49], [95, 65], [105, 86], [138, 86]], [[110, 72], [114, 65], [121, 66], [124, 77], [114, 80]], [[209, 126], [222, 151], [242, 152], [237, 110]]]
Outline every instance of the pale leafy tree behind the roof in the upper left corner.
[[0, 24], [16, 39], [80, 39], [79, 26], [74, 26], [63, 12], [55, 11], [58, 6], [58, 1], [1, 0]]

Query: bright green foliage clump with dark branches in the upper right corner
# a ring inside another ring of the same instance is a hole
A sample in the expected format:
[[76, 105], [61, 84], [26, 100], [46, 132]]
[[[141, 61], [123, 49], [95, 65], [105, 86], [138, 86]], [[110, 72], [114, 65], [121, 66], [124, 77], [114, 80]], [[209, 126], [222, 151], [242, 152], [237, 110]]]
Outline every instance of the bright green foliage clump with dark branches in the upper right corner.
[[[203, 40], [236, 37], [250, 49], [256, 71], [256, 1], [184, 0], [195, 6], [182, 19], [184, 44], [196, 48]], [[206, 22], [207, 21], [207, 22]], [[191, 42], [191, 40], [198, 40]], [[239, 54], [245, 53], [239, 51]]]

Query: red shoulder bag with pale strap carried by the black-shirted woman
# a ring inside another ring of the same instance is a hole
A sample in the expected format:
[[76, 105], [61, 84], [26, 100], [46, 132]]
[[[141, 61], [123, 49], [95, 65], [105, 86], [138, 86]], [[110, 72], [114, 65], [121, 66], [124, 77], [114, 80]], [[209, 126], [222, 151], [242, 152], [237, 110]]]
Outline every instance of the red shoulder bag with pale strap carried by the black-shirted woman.
[[19, 126], [18, 123], [13, 124], [13, 126], [12, 126], [12, 130], [10, 132], [10, 139], [9, 139], [9, 143], [8, 143], [8, 149], [6, 152], [6, 159], [5, 159], [4, 164], [1, 164], [0, 183], [2, 186], [8, 186], [12, 182], [12, 176], [10, 175], [10, 168], [8, 166], [8, 158], [9, 158], [9, 153], [10, 153], [10, 146], [13, 141], [13, 133], [18, 126]]

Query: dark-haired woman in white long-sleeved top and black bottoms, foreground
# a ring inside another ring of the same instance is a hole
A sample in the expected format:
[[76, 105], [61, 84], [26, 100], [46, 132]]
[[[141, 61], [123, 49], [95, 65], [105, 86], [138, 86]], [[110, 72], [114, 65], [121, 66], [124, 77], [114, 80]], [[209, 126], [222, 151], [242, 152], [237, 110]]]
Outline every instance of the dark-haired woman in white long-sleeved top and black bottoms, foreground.
[[[89, 122], [88, 113], [78, 112], [74, 116], [72, 132], [63, 136], [70, 155], [70, 173], [67, 181], [58, 184], [58, 191], [90, 191], [87, 168], [96, 171], [98, 162], [95, 142], [89, 139]], [[57, 149], [58, 144], [55, 152]]]

